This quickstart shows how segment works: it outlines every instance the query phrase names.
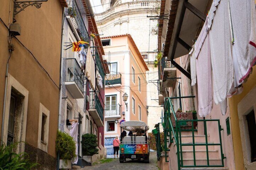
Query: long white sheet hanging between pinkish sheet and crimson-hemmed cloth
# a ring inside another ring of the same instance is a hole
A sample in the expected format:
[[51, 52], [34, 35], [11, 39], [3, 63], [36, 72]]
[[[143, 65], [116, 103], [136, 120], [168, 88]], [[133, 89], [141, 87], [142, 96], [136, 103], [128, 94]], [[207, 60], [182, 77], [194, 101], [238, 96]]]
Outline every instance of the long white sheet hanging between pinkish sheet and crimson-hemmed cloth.
[[220, 104], [226, 100], [233, 83], [228, 1], [219, 2], [209, 30], [209, 36], [213, 72], [213, 99], [215, 104]]

